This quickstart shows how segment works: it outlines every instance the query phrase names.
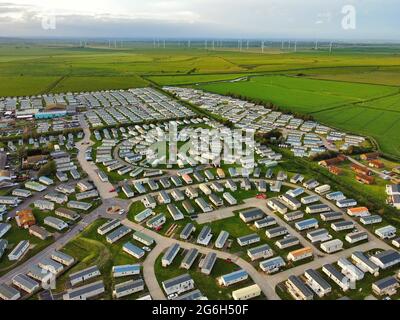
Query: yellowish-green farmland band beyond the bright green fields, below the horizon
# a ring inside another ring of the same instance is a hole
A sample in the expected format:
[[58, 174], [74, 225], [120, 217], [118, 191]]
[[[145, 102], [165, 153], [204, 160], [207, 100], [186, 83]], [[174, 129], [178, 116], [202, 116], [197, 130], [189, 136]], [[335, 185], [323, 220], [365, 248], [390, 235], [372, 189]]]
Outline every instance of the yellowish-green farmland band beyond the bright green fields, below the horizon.
[[[148, 77], [159, 85], [231, 80], [246, 74], [264, 73], [302, 73], [310, 77], [340, 75], [340, 80], [353, 81], [358, 70], [374, 72], [371, 77], [362, 73], [369, 78], [368, 82], [396, 85], [399, 68], [398, 57], [389, 49], [372, 54], [343, 49], [331, 56], [325, 51], [275, 50], [261, 54], [254, 50], [177, 47], [109, 49], [68, 44], [2, 45], [0, 95], [139, 87], [147, 84], [141, 77]], [[388, 73], [393, 75], [389, 77], [392, 80], [386, 79]]]

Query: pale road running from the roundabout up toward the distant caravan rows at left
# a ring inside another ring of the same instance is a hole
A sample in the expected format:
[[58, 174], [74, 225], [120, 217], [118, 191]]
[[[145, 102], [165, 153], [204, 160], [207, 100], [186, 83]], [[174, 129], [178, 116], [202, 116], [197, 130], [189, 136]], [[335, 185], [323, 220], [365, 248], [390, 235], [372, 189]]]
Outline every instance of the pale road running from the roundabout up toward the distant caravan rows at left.
[[90, 139], [91, 132], [86, 123], [84, 115], [79, 117], [79, 122], [85, 134], [84, 139], [76, 144], [76, 148], [78, 149], [78, 161], [83, 171], [85, 171], [90, 179], [93, 181], [97, 190], [99, 191], [100, 197], [103, 200], [117, 198], [117, 192], [110, 192], [110, 190], [114, 189], [114, 186], [110, 182], [103, 182], [100, 180], [97, 172], [98, 168], [93, 162], [89, 162], [86, 160], [86, 150], [94, 145], [94, 142]]

